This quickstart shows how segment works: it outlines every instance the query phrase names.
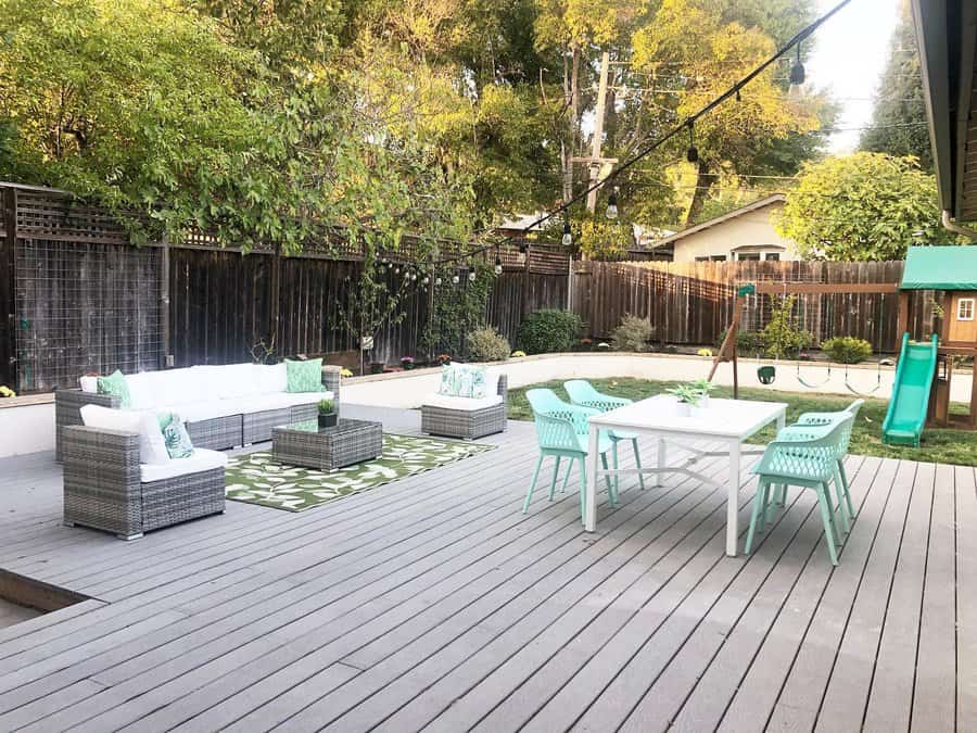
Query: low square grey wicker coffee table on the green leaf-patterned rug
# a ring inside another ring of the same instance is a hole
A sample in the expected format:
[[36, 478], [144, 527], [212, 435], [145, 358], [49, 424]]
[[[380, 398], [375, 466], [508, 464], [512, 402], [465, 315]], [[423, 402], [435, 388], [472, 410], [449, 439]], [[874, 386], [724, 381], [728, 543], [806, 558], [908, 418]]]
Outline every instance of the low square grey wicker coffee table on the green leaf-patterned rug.
[[331, 471], [370, 460], [381, 453], [380, 422], [341, 418], [332, 428], [320, 428], [317, 420], [309, 420], [271, 429], [271, 454], [276, 462], [289, 466]]

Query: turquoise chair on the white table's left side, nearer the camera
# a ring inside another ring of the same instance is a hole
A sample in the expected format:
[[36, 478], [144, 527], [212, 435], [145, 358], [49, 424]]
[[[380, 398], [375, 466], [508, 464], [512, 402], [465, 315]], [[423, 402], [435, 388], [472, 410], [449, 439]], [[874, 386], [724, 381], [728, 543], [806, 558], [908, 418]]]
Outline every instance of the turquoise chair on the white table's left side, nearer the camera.
[[[549, 501], [553, 501], [553, 492], [556, 489], [561, 459], [569, 458], [571, 462], [567, 466], [567, 476], [563, 478], [561, 491], [567, 488], [573, 462], [580, 462], [580, 518], [581, 521], [586, 521], [584, 496], [587, 488], [586, 458], [589, 433], [587, 418], [592, 415], [599, 415], [599, 410], [571, 405], [560, 400], [553, 390], [547, 389], [529, 390], [525, 396], [533, 408], [536, 437], [540, 440], [540, 456], [536, 458], [536, 467], [533, 470], [532, 483], [530, 483], [529, 491], [525, 494], [525, 502], [522, 503], [522, 514], [529, 511], [529, 505], [533, 498], [533, 491], [536, 489], [536, 480], [540, 478], [540, 468], [543, 466], [543, 459], [551, 456], [556, 458], [556, 466], [554, 466], [553, 479], [549, 482]], [[607, 470], [607, 452], [610, 448], [611, 440], [601, 430], [598, 434], [598, 452], [600, 453], [600, 463], [604, 465], [605, 470]], [[604, 478], [607, 482], [610, 502], [612, 505], [617, 504], [618, 495], [613, 490], [613, 484], [606, 473]]]

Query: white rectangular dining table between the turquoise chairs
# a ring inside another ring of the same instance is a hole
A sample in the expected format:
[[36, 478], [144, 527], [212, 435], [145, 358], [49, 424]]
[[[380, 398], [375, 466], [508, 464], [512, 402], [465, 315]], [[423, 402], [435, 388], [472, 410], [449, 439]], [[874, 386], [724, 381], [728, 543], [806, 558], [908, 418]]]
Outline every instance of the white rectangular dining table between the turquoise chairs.
[[[659, 394], [648, 400], [619, 407], [589, 418], [589, 444], [587, 454], [587, 492], [584, 503], [584, 528], [588, 532], [597, 527], [597, 479], [602, 475], [655, 473], [661, 485], [663, 473], [682, 473], [722, 488], [721, 483], [694, 470], [698, 460], [711, 456], [728, 456], [729, 473], [726, 481], [726, 554], [736, 555], [739, 536], [739, 471], [745, 455], [762, 453], [744, 450], [743, 444], [751, 435], [776, 421], [777, 430], [784, 427], [787, 405], [782, 402], [752, 402], [749, 400], [719, 400], [710, 397], [708, 404], [682, 413], [675, 397]], [[652, 467], [627, 469], [599, 469], [597, 435], [600, 430], [652, 435], [658, 439], [658, 463]], [[688, 441], [706, 441], [724, 444], [725, 450], [700, 450]], [[669, 466], [668, 445], [682, 447], [691, 454], [683, 463]]]

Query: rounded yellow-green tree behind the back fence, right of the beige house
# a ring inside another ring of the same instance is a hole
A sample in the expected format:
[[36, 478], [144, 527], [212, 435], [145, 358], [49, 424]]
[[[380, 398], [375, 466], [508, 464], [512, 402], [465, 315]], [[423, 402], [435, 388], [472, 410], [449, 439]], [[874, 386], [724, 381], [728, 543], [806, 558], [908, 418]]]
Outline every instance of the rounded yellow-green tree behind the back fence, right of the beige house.
[[902, 260], [916, 241], [952, 242], [934, 177], [914, 157], [854, 153], [804, 166], [775, 222], [811, 260]]

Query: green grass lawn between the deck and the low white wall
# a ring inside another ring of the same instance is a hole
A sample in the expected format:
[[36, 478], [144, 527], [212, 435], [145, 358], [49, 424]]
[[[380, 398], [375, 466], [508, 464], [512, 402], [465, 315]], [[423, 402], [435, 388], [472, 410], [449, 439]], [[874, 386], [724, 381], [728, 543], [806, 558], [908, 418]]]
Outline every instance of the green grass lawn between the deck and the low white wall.
[[[659, 394], [677, 382], [650, 381], [643, 379], [593, 379], [600, 392], [614, 394], [632, 400], [643, 400]], [[561, 382], [545, 382], [533, 387], [548, 387], [563, 400]], [[526, 389], [520, 388], [509, 391], [509, 417], [513, 420], [532, 420], [533, 414], [525, 399]], [[718, 397], [732, 397], [733, 388], [718, 387], [713, 394]], [[854, 400], [854, 396], [838, 394], [812, 395], [797, 392], [778, 392], [774, 390], [740, 388], [741, 400], [765, 400], [769, 402], [786, 402], [787, 425], [790, 425], [801, 413], [834, 412], [843, 409]], [[918, 448], [884, 445], [881, 442], [881, 424], [886, 418], [888, 400], [865, 400], [865, 404], [859, 413], [851, 438], [851, 453], [866, 456], [884, 456], [887, 458], [908, 458], [911, 460], [926, 460], [940, 464], [959, 464], [963, 466], [977, 466], [977, 431], [967, 430], [935, 430], [927, 428], [923, 431], [922, 445]], [[952, 405], [957, 409], [966, 410], [966, 405]], [[767, 428], [756, 437], [756, 442], [765, 442], [774, 437], [774, 428]]]

